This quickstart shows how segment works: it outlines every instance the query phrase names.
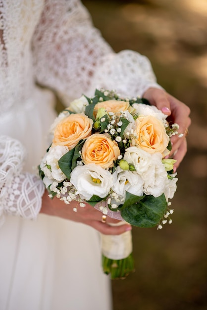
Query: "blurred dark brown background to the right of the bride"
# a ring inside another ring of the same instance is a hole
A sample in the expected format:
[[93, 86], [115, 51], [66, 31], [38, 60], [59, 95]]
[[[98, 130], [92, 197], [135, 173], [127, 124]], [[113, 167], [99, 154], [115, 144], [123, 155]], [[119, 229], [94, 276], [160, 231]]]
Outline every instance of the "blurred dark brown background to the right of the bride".
[[147, 55], [158, 83], [191, 108], [173, 223], [133, 228], [136, 271], [112, 281], [114, 310], [207, 310], [207, 0], [82, 2], [115, 52]]

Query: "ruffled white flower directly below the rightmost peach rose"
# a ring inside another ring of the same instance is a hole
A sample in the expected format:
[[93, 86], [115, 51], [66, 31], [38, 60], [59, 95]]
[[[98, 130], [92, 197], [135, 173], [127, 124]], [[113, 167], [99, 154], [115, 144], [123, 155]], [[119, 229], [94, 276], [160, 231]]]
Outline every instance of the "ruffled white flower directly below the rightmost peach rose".
[[168, 180], [167, 171], [161, 162], [161, 154], [152, 154], [152, 162], [148, 170], [142, 174], [145, 181], [144, 192], [146, 195], [158, 197], [164, 192], [165, 184]]

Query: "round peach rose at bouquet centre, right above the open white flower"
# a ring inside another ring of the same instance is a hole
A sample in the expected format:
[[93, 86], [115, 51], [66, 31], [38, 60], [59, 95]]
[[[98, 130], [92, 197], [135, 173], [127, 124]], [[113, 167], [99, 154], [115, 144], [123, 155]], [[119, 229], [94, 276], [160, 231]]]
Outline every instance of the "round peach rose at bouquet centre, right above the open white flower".
[[91, 135], [82, 148], [82, 160], [85, 164], [96, 163], [103, 168], [113, 167], [118, 155], [120, 155], [118, 144], [105, 134]]

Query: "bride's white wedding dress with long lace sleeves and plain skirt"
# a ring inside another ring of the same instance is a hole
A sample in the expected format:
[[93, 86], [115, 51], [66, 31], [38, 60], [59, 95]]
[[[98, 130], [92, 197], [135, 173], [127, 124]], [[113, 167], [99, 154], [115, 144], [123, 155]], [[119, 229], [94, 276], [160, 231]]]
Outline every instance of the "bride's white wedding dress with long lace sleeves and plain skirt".
[[0, 0], [0, 310], [111, 309], [98, 232], [38, 214], [35, 168], [49, 146], [52, 90], [69, 105], [96, 87], [137, 96], [151, 86], [148, 59], [115, 54], [79, 0]]

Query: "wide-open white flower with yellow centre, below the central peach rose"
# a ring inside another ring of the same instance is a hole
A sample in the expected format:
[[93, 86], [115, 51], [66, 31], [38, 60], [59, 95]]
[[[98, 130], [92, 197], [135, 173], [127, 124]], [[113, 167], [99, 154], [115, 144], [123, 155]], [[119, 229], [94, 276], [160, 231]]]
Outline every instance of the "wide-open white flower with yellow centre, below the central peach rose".
[[90, 163], [75, 167], [70, 175], [70, 183], [75, 186], [81, 199], [89, 200], [93, 195], [106, 197], [113, 181], [109, 171], [100, 165]]

